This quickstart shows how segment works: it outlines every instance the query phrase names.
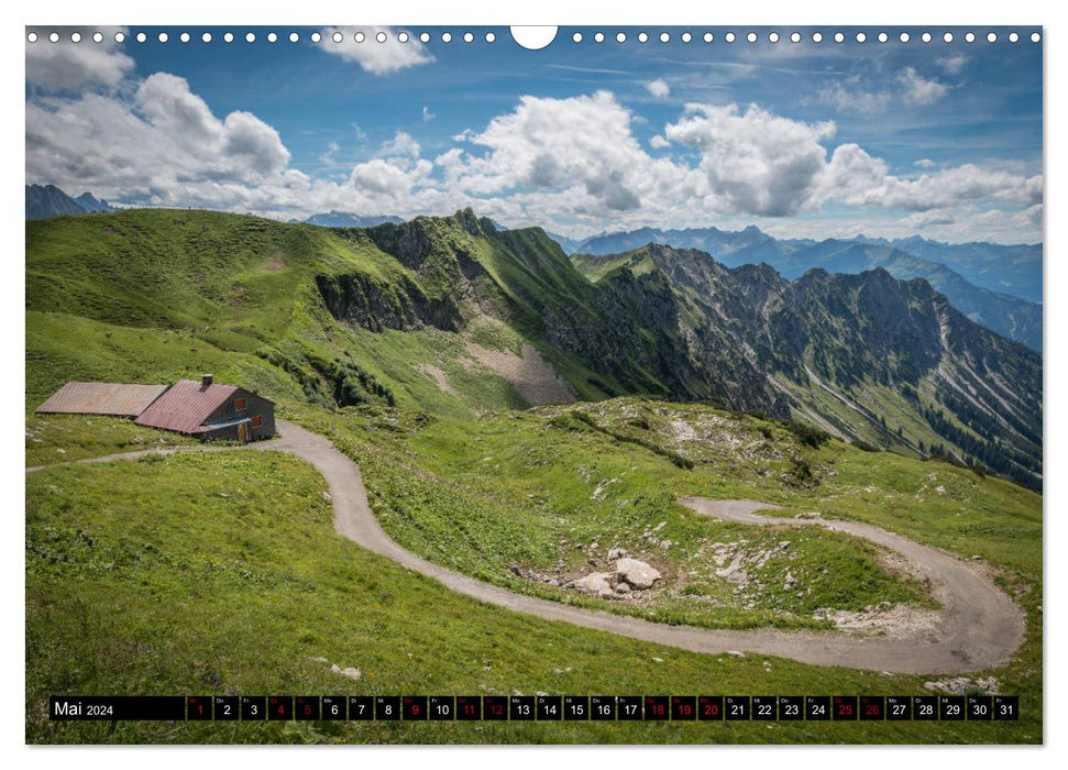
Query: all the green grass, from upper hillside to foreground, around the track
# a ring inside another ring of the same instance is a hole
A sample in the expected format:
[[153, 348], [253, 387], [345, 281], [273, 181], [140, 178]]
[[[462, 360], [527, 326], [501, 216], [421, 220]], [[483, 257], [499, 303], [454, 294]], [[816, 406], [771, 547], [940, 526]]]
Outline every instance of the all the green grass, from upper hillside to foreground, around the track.
[[[929, 605], [922, 585], [893, 576], [884, 554], [863, 542], [700, 518], [674, 503], [682, 494], [857, 518], [962, 558], [980, 556], [1027, 613], [1020, 654], [986, 672], [1002, 692], [1023, 696], [1025, 719], [877, 730], [759, 724], [235, 730], [43, 719], [41, 698], [60, 691], [680, 693], [715, 684], [742, 693], [922, 692], [920, 678], [693, 656], [480, 605], [335, 537], [322, 481], [293, 459], [254, 453], [27, 476], [27, 739], [1041, 740], [1038, 495], [945, 463], [837, 441], [808, 446], [804, 432], [775, 420], [700, 404], [616, 398], [518, 411], [527, 404], [508, 383], [465, 363], [466, 344], [513, 352], [525, 339], [541, 345], [544, 318], [594, 312], [592, 285], [547, 248], [540, 231], [476, 238], [462, 216], [453, 219], [425, 221], [433, 249], [419, 260], [395, 248], [390, 239], [404, 242], [410, 231], [393, 226], [331, 231], [194, 211], [27, 223], [27, 409], [68, 380], [163, 383], [211, 371], [275, 398], [280, 416], [329, 436], [356, 460], [376, 515], [405, 547], [513, 590], [665, 623], [824, 628], [815, 614], [823, 607]], [[454, 268], [474, 276], [463, 284], [470, 294], [461, 328], [386, 322], [448, 312], [459, 285]], [[353, 282], [346, 292], [376, 293], [381, 330], [327, 309], [318, 282], [341, 276]], [[547, 302], [550, 285], [560, 294]], [[494, 307], [504, 308], [497, 318], [488, 312]], [[656, 340], [648, 344], [656, 348]], [[570, 354], [543, 353], [582, 397], [621, 387]], [[638, 372], [637, 359], [631, 364], [620, 372], [656, 389], [656, 375]], [[444, 372], [454, 395], [425, 365]], [[871, 407], [880, 403], [873, 397]], [[122, 420], [27, 416], [26, 463], [161, 440], [176, 439]], [[755, 568], [744, 590], [715, 574], [716, 543], [745, 540], [738, 552], [751, 557], [784, 539], [788, 554]], [[592, 569], [591, 559], [604, 563], [616, 544], [660, 568], [670, 579], [663, 590], [635, 604], [605, 602], [511, 569], [569, 578]], [[804, 592], [781, 590], [788, 571]], [[318, 657], [356, 666], [363, 676], [339, 678], [311, 660]]]

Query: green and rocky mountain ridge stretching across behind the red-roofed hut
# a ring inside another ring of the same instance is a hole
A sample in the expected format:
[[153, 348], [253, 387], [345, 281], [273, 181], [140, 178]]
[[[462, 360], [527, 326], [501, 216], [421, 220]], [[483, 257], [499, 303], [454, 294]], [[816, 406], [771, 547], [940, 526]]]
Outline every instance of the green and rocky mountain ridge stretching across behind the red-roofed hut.
[[268, 397], [480, 414], [539, 403], [514, 376], [537, 359], [579, 399], [711, 402], [1042, 484], [1041, 356], [882, 267], [569, 258], [470, 210], [368, 229], [129, 210], [27, 222], [26, 244], [27, 398], [211, 366]]

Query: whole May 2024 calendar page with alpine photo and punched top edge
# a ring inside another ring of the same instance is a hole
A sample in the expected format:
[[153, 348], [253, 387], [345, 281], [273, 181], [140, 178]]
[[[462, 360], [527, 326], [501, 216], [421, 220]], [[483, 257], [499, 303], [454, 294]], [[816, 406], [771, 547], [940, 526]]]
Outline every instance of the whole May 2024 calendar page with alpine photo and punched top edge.
[[26, 26], [29, 744], [1042, 744], [1038, 26]]

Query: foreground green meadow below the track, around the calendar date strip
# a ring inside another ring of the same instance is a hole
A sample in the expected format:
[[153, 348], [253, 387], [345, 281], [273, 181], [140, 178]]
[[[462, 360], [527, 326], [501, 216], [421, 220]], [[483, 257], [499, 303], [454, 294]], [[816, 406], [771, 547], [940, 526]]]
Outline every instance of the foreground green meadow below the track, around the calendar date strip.
[[[153, 499], [143, 491], [152, 486]], [[698, 656], [458, 596], [330, 527], [272, 453], [27, 477], [31, 743], [1037, 743], [1041, 654], [998, 672], [1020, 723], [52, 723], [51, 693], [882, 693], [923, 678]], [[70, 586], [77, 585], [77, 591]], [[327, 662], [323, 662], [327, 661]], [[331, 663], [361, 671], [359, 680]]]

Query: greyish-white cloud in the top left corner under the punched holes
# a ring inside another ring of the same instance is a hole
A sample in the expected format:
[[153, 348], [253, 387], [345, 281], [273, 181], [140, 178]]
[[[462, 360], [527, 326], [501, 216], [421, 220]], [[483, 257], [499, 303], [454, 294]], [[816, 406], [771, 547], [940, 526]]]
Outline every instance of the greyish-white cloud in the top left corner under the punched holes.
[[[103, 40], [90, 40], [100, 31]], [[133, 69], [133, 59], [117, 50], [115, 32], [123, 28], [70, 28], [65, 38], [52, 43], [40, 34], [36, 43], [26, 42], [26, 82], [38, 88], [76, 90], [88, 85], [113, 88]], [[73, 43], [67, 36], [80, 32], [81, 42]]]

